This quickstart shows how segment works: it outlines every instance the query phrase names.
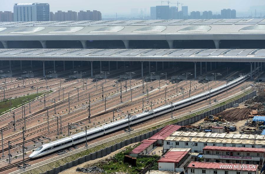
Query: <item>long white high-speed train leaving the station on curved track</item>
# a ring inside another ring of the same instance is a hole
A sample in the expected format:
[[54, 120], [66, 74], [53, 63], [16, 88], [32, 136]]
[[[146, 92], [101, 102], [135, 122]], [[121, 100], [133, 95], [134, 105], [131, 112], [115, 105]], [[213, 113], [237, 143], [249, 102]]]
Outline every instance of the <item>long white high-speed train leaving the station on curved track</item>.
[[[198, 95], [185, 98], [183, 100], [180, 100], [172, 104], [170, 103], [165, 106], [160, 106], [153, 110], [143, 111], [142, 113], [139, 113], [139, 114], [136, 114], [130, 117], [130, 125], [134, 125], [136, 123], [146, 121], [150, 118], [154, 118], [156, 116], [169, 113], [171, 112], [171, 108], [173, 111], [175, 111], [179, 108], [183, 108], [185, 106], [191, 105], [198, 101], [205, 100], [210, 97], [210, 92], [211, 92], [211, 96], [214, 96], [223, 91], [226, 91], [226, 89], [232, 88], [236, 86], [237, 84], [242, 83], [247, 78], [249, 78], [249, 76], [241, 76], [225, 85], [219, 86], [218, 88], [214, 88], [211, 91], [203, 92]], [[125, 119], [119, 120], [119, 121], [115, 121], [113, 123], [108, 123], [104, 126], [92, 128], [87, 131], [87, 140], [91, 140], [91, 139], [100, 137], [102, 135], [105, 135], [105, 134], [108, 134], [108, 133], [111, 133], [111, 132], [114, 132], [114, 131], [117, 131], [123, 128], [127, 128], [127, 126], [128, 126], [128, 117]], [[77, 133], [77, 134], [71, 135], [66, 138], [62, 138], [60, 140], [56, 140], [56, 141], [44, 144], [40, 146], [39, 148], [37, 148], [32, 154], [30, 154], [29, 158], [39, 158], [44, 155], [48, 155], [48, 154], [57, 152], [59, 150], [63, 150], [68, 147], [72, 147], [74, 145], [83, 143], [86, 140], [85, 134], [86, 134], [85, 132], [81, 132], [81, 133]]]

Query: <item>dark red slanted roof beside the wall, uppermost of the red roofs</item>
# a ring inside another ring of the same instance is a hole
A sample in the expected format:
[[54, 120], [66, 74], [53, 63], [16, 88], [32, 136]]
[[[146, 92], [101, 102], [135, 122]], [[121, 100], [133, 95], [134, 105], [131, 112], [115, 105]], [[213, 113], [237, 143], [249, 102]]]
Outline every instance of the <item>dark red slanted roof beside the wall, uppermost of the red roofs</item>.
[[161, 131], [156, 133], [155, 135], [151, 136], [150, 140], [165, 140], [169, 135], [171, 135], [173, 132], [177, 131], [181, 126], [178, 125], [167, 125]]

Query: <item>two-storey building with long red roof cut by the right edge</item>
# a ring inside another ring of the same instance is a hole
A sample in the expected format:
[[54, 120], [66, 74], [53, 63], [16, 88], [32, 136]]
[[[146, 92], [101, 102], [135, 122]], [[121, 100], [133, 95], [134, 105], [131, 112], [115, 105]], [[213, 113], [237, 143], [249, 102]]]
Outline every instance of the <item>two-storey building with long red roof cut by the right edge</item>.
[[205, 146], [203, 154], [205, 162], [243, 163], [262, 166], [265, 148]]

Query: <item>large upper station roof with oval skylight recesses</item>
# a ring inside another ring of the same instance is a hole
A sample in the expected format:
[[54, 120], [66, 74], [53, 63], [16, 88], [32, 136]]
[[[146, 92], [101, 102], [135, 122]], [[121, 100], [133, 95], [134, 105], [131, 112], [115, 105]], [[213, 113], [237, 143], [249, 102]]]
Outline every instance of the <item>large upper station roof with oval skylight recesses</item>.
[[[265, 19], [0, 22], [2, 41], [25, 38], [27, 40], [44, 38], [45, 40], [189, 40], [187, 36], [190, 34], [193, 34], [192, 40], [218, 39], [215, 35], [221, 36], [219, 39], [264, 39], [264, 33]], [[234, 34], [235, 38], [231, 34]], [[259, 37], [254, 37], [255, 34]], [[143, 39], [143, 36], [147, 38]]]

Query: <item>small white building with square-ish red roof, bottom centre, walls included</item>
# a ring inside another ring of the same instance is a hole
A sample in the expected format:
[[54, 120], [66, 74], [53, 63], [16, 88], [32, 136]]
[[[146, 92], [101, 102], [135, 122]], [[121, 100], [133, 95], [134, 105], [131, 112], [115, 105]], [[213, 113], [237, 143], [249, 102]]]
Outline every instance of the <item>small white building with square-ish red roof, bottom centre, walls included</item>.
[[[190, 160], [191, 148], [172, 148], [158, 160], [158, 169], [166, 171], [180, 171]], [[181, 170], [183, 171], [183, 170]]]

